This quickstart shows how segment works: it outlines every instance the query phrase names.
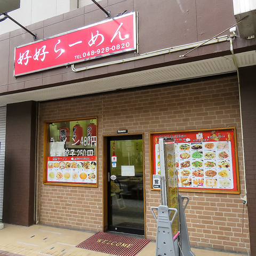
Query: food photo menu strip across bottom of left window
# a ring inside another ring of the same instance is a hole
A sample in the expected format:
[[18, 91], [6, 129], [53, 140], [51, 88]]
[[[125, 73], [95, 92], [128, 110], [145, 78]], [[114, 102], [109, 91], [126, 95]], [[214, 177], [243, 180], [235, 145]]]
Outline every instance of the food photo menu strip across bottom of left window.
[[90, 157], [47, 157], [47, 182], [97, 183], [97, 162]]

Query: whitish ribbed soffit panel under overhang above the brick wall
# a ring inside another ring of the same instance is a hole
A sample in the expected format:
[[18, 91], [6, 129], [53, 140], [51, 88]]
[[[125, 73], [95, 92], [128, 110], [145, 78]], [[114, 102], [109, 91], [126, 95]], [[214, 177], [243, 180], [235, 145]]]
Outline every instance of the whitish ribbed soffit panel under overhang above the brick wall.
[[[236, 54], [236, 59], [238, 67], [256, 65], [255, 51]], [[236, 71], [236, 67], [234, 65], [233, 58], [231, 55], [228, 55], [202, 61], [189, 62], [182, 65], [150, 69], [47, 89], [2, 95], [0, 96], [0, 106], [29, 100], [45, 101], [114, 91], [136, 86], [146, 86], [151, 84], [180, 81], [189, 78], [225, 74], [234, 71]]]

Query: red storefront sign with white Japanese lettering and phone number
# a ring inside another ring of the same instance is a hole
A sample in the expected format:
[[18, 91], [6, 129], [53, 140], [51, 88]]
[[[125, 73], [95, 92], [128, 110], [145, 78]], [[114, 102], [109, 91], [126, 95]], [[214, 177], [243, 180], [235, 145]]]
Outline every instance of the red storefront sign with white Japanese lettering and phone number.
[[14, 76], [137, 49], [136, 13], [15, 47]]

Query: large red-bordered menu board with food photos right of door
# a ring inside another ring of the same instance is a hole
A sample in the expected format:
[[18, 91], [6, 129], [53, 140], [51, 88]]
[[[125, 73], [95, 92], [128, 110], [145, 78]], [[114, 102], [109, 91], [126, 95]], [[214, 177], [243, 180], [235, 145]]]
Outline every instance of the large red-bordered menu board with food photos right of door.
[[150, 133], [151, 189], [161, 174], [158, 142], [164, 137], [174, 138], [180, 191], [240, 193], [235, 127]]

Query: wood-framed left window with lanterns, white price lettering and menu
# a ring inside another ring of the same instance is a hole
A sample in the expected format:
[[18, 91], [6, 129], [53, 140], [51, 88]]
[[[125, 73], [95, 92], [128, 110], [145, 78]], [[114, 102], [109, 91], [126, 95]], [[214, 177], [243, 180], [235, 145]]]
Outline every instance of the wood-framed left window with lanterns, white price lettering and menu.
[[98, 186], [97, 118], [45, 123], [44, 184]]

